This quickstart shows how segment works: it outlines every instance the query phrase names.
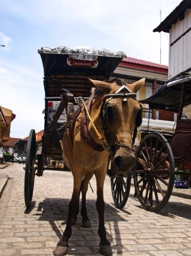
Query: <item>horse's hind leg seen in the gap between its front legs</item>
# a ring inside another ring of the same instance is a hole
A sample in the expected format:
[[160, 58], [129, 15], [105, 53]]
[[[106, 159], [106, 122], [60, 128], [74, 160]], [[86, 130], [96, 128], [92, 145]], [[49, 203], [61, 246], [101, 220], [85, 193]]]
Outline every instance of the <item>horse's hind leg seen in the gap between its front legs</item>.
[[88, 183], [91, 180], [93, 173], [87, 173], [82, 180], [81, 184], [81, 194], [82, 194], [82, 202], [81, 202], [81, 216], [82, 216], [82, 226], [83, 227], [91, 227], [89, 218], [87, 217], [87, 209], [86, 209], [86, 193], [88, 190]]

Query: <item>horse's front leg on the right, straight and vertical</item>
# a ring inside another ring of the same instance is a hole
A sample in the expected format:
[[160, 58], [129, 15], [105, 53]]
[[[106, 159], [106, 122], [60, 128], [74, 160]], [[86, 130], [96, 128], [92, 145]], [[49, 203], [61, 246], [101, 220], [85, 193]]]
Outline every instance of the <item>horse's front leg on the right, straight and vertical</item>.
[[104, 194], [103, 194], [103, 188], [104, 188], [104, 181], [105, 181], [105, 175], [100, 172], [96, 174], [96, 180], [97, 180], [97, 201], [96, 201], [96, 208], [99, 215], [99, 229], [98, 229], [98, 235], [100, 237], [100, 253], [103, 255], [112, 255], [112, 249], [110, 242], [106, 238], [106, 231], [105, 231], [105, 223], [104, 223], [104, 211], [105, 211], [105, 202], [104, 202]]

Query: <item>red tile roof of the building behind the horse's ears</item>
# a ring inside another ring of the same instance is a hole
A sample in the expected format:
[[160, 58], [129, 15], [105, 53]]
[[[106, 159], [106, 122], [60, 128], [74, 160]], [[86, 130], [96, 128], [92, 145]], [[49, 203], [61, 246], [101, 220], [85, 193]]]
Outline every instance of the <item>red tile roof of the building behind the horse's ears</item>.
[[168, 66], [153, 63], [146, 60], [135, 59], [131, 57], [123, 58], [119, 66], [126, 66], [132, 69], [140, 69], [157, 73], [168, 74]]

